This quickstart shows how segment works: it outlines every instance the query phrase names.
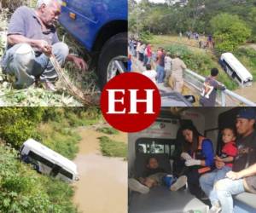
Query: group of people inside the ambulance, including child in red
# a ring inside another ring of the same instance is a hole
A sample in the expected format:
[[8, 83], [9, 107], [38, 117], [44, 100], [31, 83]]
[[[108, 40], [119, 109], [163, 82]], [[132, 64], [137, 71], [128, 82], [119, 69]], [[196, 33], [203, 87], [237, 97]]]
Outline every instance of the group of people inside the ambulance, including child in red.
[[[154, 157], [148, 158], [145, 172], [138, 179], [130, 179], [128, 186], [138, 193], [148, 193], [150, 188], [165, 185], [172, 191], [186, 185], [198, 199], [209, 199], [211, 213], [233, 213], [232, 195], [256, 193], [256, 113], [253, 108], [243, 108], [236, 115], [236, 128], [222, 130], [223, 147], [214, 155], [212, 141], [199, 133], [194, 124], [184, 124], [177, 133], [183, 139], [177, 154], [178, 170], [171, 186], [166, 184], [165, 170]], [[172, 201], [170, 201], [172, 202]]]

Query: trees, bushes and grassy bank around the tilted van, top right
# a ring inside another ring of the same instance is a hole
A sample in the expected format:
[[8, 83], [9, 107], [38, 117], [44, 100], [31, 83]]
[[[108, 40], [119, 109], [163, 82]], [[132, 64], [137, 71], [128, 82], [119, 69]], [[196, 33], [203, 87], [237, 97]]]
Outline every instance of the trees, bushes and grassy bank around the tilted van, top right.
[[[224, 52], [232, 52], [252, 73], [256, 81], [256, 3], [253, 0], [189, 0], [181, 5], [167, 0], [165, 3], [151, 3], [129, 0], [129, 32], [144, 42], [152, 43], [154, 50], [164, 47], [178, 52], [189, 69], [202, 76], [209, 75], [212, 67], [218, 67], [218, 58]], [[182, 32], [183, 37], [177, 35]], [[188, 39], [185, 32], [198, 32], [201, 41], [213, 36], [212, 49], [199, 49], [198, 41]], [[146, 35], [146, 36], [144, 36]], [[182, 45], [183, 44], [183, 45]], [[228, 89], [238, 85], [224, 72], [218, 80]]]

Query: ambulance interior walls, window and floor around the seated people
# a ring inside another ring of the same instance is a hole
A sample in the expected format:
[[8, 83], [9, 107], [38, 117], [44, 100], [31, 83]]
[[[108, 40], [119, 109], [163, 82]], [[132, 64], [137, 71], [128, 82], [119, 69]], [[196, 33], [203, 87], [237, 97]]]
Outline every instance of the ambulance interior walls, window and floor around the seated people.
[[[215, 153], [222, 147], [220, 131], [236, 124], [240, 107], [162, 107], [159, 117], [148, 129], [128, 135], [129, 178], [139, 177], [150, 156], [172, 174], [176, 165], [173, 155], [179, 146], [177, 131], [181, 124], [193, 122], [199, 132], [212, 140]], [[255, 109], [256, 110], [256, 109]], [[256, 142], [256, 141], [255, 141]], [[256, 212], [256, 195], [241, 193], [234, 198], [235, 213]], [[195, 198], [189, 189], [170, 191], [165, 186], [153, 187], [141, 194], [129, 190], [130, 213], [207, 212], [209, 201]]]

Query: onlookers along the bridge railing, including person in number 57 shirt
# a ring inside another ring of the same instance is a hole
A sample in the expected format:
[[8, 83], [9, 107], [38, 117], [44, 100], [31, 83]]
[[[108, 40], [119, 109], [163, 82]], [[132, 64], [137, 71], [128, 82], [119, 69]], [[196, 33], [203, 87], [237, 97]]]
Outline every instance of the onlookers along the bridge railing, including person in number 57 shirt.
[[[194, 34], [192, 33], [193, 37], [195, 37]], [[212, 37], [209, 36], [208, 40], [212, 42]], [[156, 84], [164, 83], [165, 86], [171, 87], [174, 91], [183, 93], [183, 72], [187, 66], [178, 53], [170, 53], [161, 47], [154, 52], [150, 43], [143, 43], [136, 39], [129, 40], [129, 49], [131, 52], [129, 56], [130, 66], [131, 56], [133, 56], [145, 66], [146, 71], [143, 72], [143, 75]], [[218, 69], [212, 68], [201, 88], [199, 102], [202, 107], [214, 107], [218, 89], [226, 89], [223, 84], [218, 83], [217, 77]]]

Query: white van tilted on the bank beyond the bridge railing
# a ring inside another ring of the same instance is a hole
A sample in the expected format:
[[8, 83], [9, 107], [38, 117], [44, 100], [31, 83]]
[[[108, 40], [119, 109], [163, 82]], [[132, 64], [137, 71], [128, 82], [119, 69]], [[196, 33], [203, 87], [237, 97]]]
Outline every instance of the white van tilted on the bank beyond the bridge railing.
[[247, 71], [247, 68], [241, 64], [239, 60], [231, 53], [224, 53], [219, 59], [220, 65], [224, 71], [235, 79], [241, 86], [251, 86], [253, 83], [253, 76]]

